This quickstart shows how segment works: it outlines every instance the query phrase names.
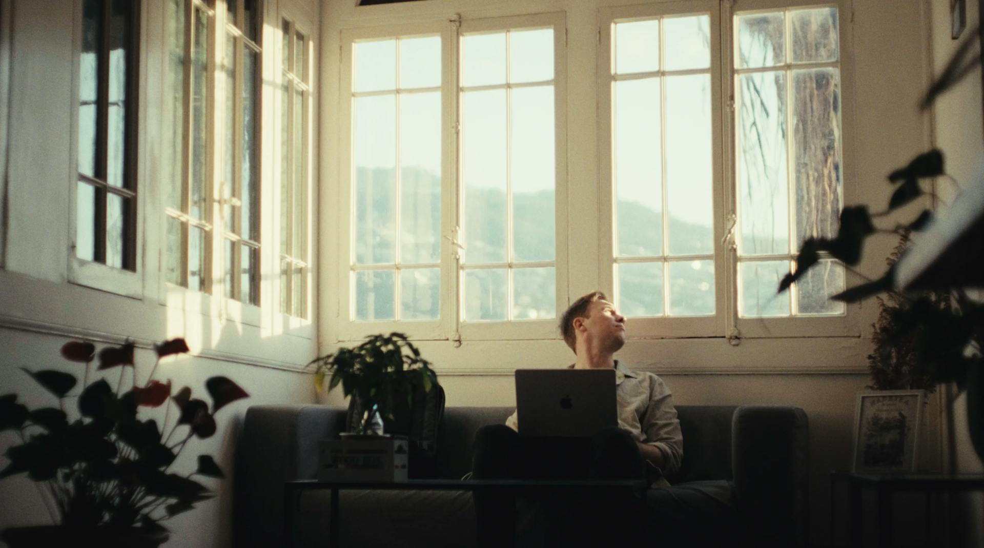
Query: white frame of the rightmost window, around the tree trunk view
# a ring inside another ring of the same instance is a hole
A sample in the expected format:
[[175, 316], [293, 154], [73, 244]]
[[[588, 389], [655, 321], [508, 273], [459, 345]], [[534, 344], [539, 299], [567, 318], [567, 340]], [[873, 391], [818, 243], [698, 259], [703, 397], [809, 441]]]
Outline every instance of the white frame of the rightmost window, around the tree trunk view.
[[[725, 38], [728, 44], [734, 44], [736, 32], [734, 30], [734, 17], [738, 14], [749, 12], [771, 12], [785, 11], [797, 8], [837, 8], [837, 30], [838, 30], [838, 55], [840, 70], [840, 134], [841, 134], [841, 177], [843, 178], [843, 204], [857, 203], [857, 177], [854, 163], [854, 70], [853, 70], [853, 40], [852, 25], [850, 18], [852, 14], [851, 6], [846, 0], [836, 2], [809, 1], [809, 0], [743, 0], [740, 9], [732, 9], [727, 3], [721, 4], [722, 22], [725, 24]], [[722, 82], [726, 82], [729, 89], [729, 97], [734, 100], [735, 72], [734, 72], [734, 53], [729, 45], [726, 51], [730, 55], [722, 59]], [[733, 166], [737, 165], [737, 123], [736, 109], [730, 108], [728, 116], [728, 128], [725, 128], [725, 139], [728, 147], [729, 170], [725, 192], [728, 196], [730, 214], [738, 216], [737, 181]], [[738, 316], [738, 255], [735, 245], [729, 242], [731, 247], [728, 254], [728, 272], [731, 274], [730, 296], [733, 299], [728, 314], [728, 335], [741, 337], [824, 337], [824, 336], [860, 336], [860, 306], [848, 304], [845, 312], [841, 315], [830, 316], [786, 316], [777, 318], [740, 318]], [[856, 274], [849, 271], [844, 273], [845, 287], [851, 287], [863, 281]]]

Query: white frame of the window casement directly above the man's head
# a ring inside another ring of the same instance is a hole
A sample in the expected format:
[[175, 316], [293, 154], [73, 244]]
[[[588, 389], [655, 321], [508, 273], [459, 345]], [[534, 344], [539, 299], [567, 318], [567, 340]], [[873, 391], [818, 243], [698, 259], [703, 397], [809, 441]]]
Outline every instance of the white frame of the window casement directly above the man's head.
[[[598, 186], [600, 194], [601, 215], [598, 242], [598, 272], [599, 283], [611, 298], [615, 296], [614, 241], [616, 237], [616, 222], [614, 208], [614, 157], [612, 137], [612, 83], [613, 76], [612, 40], [616, 23], [633, 20], [651, 20], [669, 16], [707, 15], [710, 31], [710, 115], [711, 115], [711, 161], [712, 174], [712, 208], [713, 215], [713, 262], [714, 262], [714, 315], [713, 316], [661, 316], [656, 318], [630, 318], [633, 328], [631, 338], [672, 338], [687, 336], [714, 336], [724, 331], [724, 314], [727, 309], [724, 294], [727, 292], [728, 269], [724, 268], [724, 250], [720, 244], [724, 236], [724, 198], [722, 196], [723, 144], [721, 139], [722, 109], [721, 109], [721, 32], [720, 32], [720, 3], [716, 0], [692, 0], [685, 2], [649, 4], [644, 6], [623, 6], [618, 8], [603, 8], [599, 10], [600, 45], [598, 46]], [[664, 33], [660, 32], [660, 41], [664, 41]], [[660, 46], [662, 50], [662, 45]], [[663, 67], [652, 75], [663, 76]], [[661, 117], [661, 120], [664, 117]], [[665, 139], [660, 139], [665, 147]], [[663, 166], [665, 170], [665, 165]], [[665, 177], [662, 179], [665, 186]], [[665, 203], [664, 203], [665, 209]], [[662, 262], [671, 259], [665, 256]], [[632, 263], [633, 261], [624, 261]], [[660, 264], [662, 264], [662, 262]], [[664, 283], [669, 283], [665, 279]], [[668, 309], [669, 302], [664, 303]]]

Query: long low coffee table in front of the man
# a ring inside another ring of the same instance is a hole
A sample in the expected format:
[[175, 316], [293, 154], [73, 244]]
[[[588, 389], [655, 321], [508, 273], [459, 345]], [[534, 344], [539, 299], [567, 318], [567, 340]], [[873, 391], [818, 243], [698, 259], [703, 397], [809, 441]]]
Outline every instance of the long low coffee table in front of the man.
[[364, 489], [370, 491], [505, 491], [517, 496], [543, 492], [623, 491], [631, 493], [646, 508], [646, 482], [643, 480], [520, 480], [520, 479], [411, 479], [404, 482], [381, 481], [318, 481], [298, 479], [283, 485], [283, 545], [293, 547], [294, 511], [300, 506], [305, 491], [330, 490], [332, 509], [329, 513], [331, 546], [338, 548], [338, 492]]

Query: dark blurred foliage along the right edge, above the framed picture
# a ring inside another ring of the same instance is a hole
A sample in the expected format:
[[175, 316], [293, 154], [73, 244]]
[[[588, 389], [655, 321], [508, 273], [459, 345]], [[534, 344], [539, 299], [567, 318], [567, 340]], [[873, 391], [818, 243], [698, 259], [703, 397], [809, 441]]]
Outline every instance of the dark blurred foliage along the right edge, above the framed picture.
[[[921, 109], [929, 108], [942, 93], [975, 74], [981, 55], [973, 46], [980, 39], [980, 28], [968, 33], [927, 91]], [[946, 175], [943, 153], [937, 150], [919, 154], [905, 167], [892, 171], [889, 181], [897, 186], [888, 209], [870, 213], [865, 206], [844, 208], [836, 236], [805, 240], [795, 270], [783, 277], [778, 291], [785, 291], [827, 257], [846, 267], [857, 266], [864, 241], [872, 234], [900, 235], [901, 242], [889, 257], [889, 269], [882, 277], [830, 299], [851, 303], [888, 293], [879, 297], [879, 319], [873, 326], [876, 348], [868, 357], [874, 381], [871, 388], [931, 391], [941, 383], [955, 383], [959, 391], [966, 391], [971, 442], [978, 457], [984, 459], [984, 304], [968, 293], [984, 287], [984, 158], [979, 158], [976, 179], [959, 190], [943, 213], [937, 215], [927, 209], [892, 228], [875, 224], [921, 197], [937, 198], [920, 186], [920, 180], [935, 177], [956, 185]]]

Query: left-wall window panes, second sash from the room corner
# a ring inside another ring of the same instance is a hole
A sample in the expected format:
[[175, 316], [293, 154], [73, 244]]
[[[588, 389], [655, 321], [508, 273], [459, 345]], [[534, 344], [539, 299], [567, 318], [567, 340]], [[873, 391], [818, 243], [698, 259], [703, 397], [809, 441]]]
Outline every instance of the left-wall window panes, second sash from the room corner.
[[225, 10], [218, 97], [222, 284], [226, 297], [259, 305], [263, 15], [259, 0], [226, 0]]

